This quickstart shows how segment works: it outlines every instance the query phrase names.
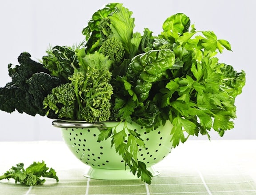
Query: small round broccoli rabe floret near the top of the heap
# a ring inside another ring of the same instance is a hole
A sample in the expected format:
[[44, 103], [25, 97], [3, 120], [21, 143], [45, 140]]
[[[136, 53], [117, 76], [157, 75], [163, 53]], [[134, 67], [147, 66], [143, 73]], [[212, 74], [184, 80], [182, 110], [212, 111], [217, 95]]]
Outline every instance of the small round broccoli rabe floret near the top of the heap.
[[120, 62], [124, 57], [124, 46], [120, 40], [112, 37], [105, 40], [100, 47], [100, 52], [114, 62]]

